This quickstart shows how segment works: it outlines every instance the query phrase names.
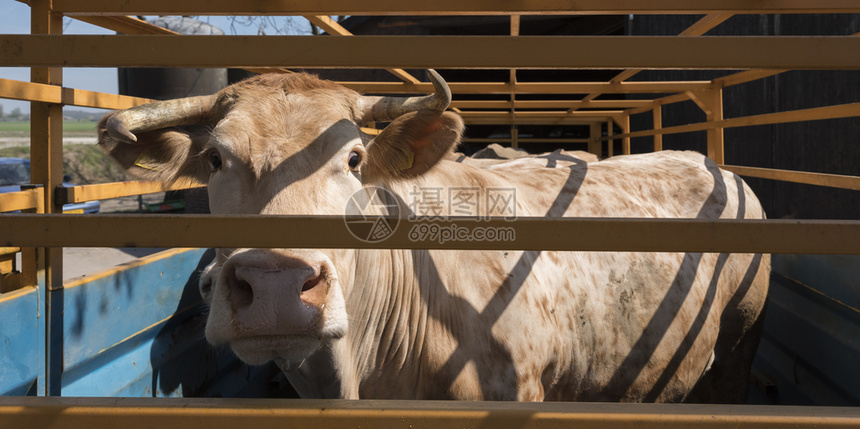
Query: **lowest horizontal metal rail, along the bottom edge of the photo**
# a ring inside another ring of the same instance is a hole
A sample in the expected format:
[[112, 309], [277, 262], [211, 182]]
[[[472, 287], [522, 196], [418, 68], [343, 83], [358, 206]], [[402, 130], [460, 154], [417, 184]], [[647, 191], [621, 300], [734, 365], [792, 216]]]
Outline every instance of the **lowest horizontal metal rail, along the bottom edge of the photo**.
[[3, 428], [858, 427], [860, 409], [749, 405], [345, 401], [301, 399], [0, 398]]

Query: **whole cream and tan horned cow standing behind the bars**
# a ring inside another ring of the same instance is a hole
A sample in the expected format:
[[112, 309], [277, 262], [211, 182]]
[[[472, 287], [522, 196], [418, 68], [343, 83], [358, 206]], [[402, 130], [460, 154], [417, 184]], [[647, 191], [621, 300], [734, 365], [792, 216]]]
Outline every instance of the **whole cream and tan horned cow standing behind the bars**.
[[[388, 203], [373, 213], [417, 222], [433, 218], [416, 190], [465, 188], [515, 197], [477, 216], [765, 217], [743, 180], [694, 152], [561, 168], [446, 160], [464, 124], [428, 73], [435, 92], [420, 97], [265, 74], [110, 113], [98, 144], [143, 179], [208, 184], [214, 214], [343, 215], [377, 196]], [[390, 124], [371, 139], [368, 122]], [[743, 401], [770, 275], [767, 254], [216, 253], [200, 283], [206, 339], [274, 361], [306, 398]]]

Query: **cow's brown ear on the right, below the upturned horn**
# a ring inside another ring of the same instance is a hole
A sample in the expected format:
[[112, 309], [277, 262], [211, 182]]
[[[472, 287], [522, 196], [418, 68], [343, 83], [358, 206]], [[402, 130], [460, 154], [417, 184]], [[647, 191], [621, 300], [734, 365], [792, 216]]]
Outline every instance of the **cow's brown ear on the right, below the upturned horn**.
[[367, 146], [363, 180], [420, 176], [448, 156], [462, 134], [463, 119], [454, 113], [421, 110], [400, 116]]

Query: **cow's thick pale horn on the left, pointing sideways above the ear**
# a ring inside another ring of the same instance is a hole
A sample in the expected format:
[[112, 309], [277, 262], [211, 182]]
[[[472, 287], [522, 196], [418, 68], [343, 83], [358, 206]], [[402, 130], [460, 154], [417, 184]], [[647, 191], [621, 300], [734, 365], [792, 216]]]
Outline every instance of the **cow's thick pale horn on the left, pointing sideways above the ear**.
[[108, 135], [125, 143], [137, 142], [134, 133], [205, 122], [215, 95], [155, 101], [121, 110], [108, 118]]

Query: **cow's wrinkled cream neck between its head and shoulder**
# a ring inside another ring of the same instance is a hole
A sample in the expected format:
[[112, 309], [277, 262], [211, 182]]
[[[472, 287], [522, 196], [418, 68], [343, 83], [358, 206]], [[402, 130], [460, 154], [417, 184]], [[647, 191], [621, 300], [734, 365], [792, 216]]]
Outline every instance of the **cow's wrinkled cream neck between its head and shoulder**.
[[[506, 183], [498, 174], [445, 164], [420, 179], [386, 187], [404, 198], [416, 186], [446, 190]], [[409, 223], [400, 227], [408, 228]], [[360, 382], [362, 397], [444, 397], [447, 392], [431, 391], [433, 383], [423, 379], [430, 374], [422, 359], [426, 359], [425, 347], [432, 347], [430, 319], [447, 314], [432, 309], [450, 305], [451, 297], [459, 295], [451, 288], [460, 285], [448, 285], [439, 278], [445, 267], [436, 267], [427, 250], [361, 249], [357, 250], [356, 267], [355, 281], [346, 297], [348, 340], [333, 357], [342, 374], [341, 390], [350, 392], [355, 389], [353, 382]], [[452, 325], [450, 321], [437, 322]]]

